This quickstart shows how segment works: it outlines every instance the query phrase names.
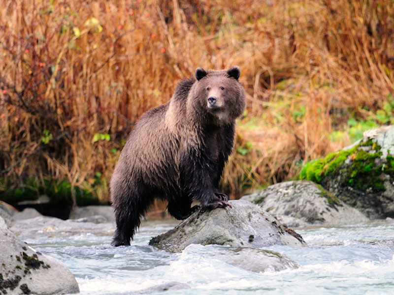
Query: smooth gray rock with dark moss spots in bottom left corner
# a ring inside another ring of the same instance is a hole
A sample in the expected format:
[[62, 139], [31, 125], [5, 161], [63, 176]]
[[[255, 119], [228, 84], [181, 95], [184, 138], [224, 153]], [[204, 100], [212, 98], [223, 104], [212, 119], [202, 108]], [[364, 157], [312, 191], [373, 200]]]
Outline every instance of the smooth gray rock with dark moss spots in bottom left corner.
[[68, 268], [52, 257], [20, 242], [7, 229], [0, 229], [1, 294], [78, 293], [78, 284]]

